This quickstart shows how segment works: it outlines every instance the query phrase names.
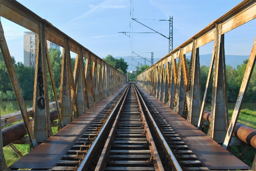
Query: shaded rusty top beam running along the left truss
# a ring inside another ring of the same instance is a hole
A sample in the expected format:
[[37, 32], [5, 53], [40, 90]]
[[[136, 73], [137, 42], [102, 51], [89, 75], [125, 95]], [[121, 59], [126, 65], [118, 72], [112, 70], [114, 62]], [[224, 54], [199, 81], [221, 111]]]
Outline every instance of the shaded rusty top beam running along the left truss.
[[[74, 39], [63, 33], [57, 27], [54, 27], [50, 22], [36, 15], [30, 9], [27, 9], [21, 3], [16, 0], [1, 0], [0, 3], [0, 15], [9, 21], [12, 21], [34, 33], [39, 34], [39, 23], [45, 23], [45, 29], [48, 30], [47, 40], [55, 43], [61, 47], [65, 47], [65, 39], [69, 39], [69, 50], [79, 54], [79, 48], [82, 48], [83, 56], [88, 59], [88, 54], [91, 55], [93, 62], [99, 63], [102, 61], [96, 54], [76, 42]], [[112, 69], [118, 71], [113, 66]], [[125, 75], [124, 75], [125, 76]]]

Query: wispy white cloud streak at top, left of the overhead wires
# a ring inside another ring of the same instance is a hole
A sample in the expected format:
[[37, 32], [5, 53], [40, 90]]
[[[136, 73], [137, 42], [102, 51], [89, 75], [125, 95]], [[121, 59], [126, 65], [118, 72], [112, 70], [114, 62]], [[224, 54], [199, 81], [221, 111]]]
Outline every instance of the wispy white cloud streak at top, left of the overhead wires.
[[80, 15], [79, 17], [73, 19], [77, 20], [83, 17], [86, 17], [87, 15], [89, 15], [90, 13], [93, 12], [100, 12], [104, 9], [123, 9], [128, 7], [129, 5], [125, 5], [128, 1], [124, 1], [124, 0], [105, 0], [104, 2], [100, 3], [97, 6], [93, 6], [93, 5], [89, 5], [89, 7], [91, 8], [89, 11], [85, 12], [83, 15]]

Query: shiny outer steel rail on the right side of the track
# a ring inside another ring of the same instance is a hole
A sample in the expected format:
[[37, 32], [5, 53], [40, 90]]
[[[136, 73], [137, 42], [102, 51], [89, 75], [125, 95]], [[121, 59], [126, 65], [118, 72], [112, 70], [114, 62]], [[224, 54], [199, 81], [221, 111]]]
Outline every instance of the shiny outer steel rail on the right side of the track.
[[177, 170], [177, 171], [182, 171], [181, 166], [179, 165], [177, 159], [175, 158], [174, 154], [172, 153], [171, 148], [169, 147], [169, 145], [167, 144], [165, 138], [163, 137], [163, 135], [162, 135], [160, 129], [159, 129], [158, 126], [157, 126], [157, 123], [154, 121], [154, 118], [152, 117], [150, 111], [148, 110], [147, 105], [145, 104], [144, 100], [142, 99], [142, 96], [141, 96], [141, 94], [139, 93], [139, 90], [137, 89], [136, 86], [135, 86], [135, 88], [136, 88], [136, 90], [137, 90], [137, 92], [138, 92], [138, 95], [140, 96], [140, 98], [141, 98], [141, 100], [142, 100], [142, 102], [143, 102], [143, 105], [145, 106], [146, 111], [148, 112], [149, 117], [151, 118], [152, 123], [154, 124], [154, 126], [155, 126], [155, 128], [156, 128], [156, 130], [157, 130], [157, 133], [158, 133], [160, 139], [161, 139], [162, 142], [163, 142], [163, 145], [165, 146], [165, 148], [166, 148], [166, 150], [167, 150], [167, 153], [168, 153], [169, 156], [171, 157], [172, 162], [173, 162], [173, 164], [175, 165], [176, 170]]

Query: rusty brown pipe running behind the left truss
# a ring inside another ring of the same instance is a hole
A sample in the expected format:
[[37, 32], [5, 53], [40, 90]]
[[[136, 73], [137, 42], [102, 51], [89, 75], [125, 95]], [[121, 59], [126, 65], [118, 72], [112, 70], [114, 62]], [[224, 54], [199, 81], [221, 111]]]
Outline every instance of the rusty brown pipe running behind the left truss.
[[[50, 120], [51, 122], [58, 119], [57, 110], [53, 110], [50, 112]], [[27, 135], [27, 130], [24, 122], [17, 123], [13, 126], [9, 126], [7, 128], [2, 129], [2, 138], [3, 138], [3, 147], [8, 144], [13, 143]]]

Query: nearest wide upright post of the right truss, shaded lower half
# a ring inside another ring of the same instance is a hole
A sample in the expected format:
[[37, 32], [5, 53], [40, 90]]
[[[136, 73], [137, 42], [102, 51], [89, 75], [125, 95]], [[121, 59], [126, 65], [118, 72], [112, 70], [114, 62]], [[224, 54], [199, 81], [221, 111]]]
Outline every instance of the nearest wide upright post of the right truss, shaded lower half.
[[229, 118], [227, 108], [224, 34], [221, 35], [221, 24], [216, 24], [215, 41], [216, 52], [211, 103], [211, 123], [208, 135], [217, 143], [223, 143], [227, 133]]

